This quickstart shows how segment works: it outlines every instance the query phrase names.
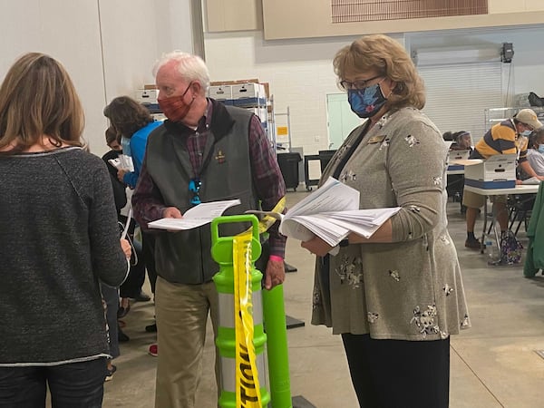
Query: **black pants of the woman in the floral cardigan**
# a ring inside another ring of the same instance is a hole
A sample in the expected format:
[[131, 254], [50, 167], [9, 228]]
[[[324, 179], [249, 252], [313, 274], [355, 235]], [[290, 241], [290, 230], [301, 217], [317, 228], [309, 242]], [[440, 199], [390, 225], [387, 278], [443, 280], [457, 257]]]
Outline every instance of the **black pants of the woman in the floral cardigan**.
[[403, 341], [344, 334], [342, 340], [360, 407], [448, 407], [449, 337]]

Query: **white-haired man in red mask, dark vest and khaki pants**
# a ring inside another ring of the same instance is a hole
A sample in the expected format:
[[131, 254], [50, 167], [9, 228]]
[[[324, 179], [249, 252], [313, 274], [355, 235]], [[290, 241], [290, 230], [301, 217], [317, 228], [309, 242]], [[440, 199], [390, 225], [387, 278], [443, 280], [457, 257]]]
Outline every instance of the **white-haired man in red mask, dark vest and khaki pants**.
[[[257, 116], [207, 98], [208, 68], [196, 55], [164, 55], [155, 66], [155, 79], [160, 110], [168, 120], [150, 135], [141, 180], [132, 196], [140, 225], [160, 218], [179, 219], [200, 201], [240, 199], [241, 204], [227, 214], [273, 209], [285, 196], [286, 186]], [[224, 227], [224, 236], [245, 229]], [[277, 225], [268, 232], [259, 259], [265, 289], [285, 279], [286, 238]], [[209, 315], [215, 335], [218, 330], [219, 296], [211, 279], [219, 266], [210, 253], [209, 225], [155, 235], [160, 345], [155, 406], [192, 408]]]

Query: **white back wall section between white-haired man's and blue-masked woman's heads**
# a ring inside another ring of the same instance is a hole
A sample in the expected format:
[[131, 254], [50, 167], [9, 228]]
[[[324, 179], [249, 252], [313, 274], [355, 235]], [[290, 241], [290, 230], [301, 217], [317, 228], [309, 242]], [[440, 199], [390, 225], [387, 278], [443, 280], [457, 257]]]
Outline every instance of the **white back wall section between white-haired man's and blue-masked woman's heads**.
[[276, 112], [290, 110], [293, 146], [327, 149], [325, 95], [336, 87], [332, 58], [352, 39], [266, 42], [259, 32], [207, 34], [212, 81], [258, 78], [270, 84]]

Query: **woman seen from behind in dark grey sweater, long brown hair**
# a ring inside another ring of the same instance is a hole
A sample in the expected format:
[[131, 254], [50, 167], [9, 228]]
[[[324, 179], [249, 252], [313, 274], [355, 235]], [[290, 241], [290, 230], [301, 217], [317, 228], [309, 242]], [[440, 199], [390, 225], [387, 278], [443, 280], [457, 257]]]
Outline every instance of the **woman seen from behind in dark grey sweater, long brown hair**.
[[83, 149], [63, 66], [15, 61], [0, 86], [0, 405], [102, 406], [109, 357], [99, 280], [117, 287], [119, 238], [103, 161]]

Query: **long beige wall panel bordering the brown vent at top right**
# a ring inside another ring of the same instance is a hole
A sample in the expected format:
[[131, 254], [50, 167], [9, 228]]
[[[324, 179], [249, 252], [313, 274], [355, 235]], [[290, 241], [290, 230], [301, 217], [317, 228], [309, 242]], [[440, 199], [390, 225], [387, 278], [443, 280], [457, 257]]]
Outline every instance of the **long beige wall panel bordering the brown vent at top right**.
[[[511, 14], [500, 12], [493, 15], [394, 20], [390, 22], [332, 24], [329, 0], [262, 1], [264, 31], [267, 40], [374, 33], [410, 33], [453, 28], [541, 24], [544, 22], [544, 11], [530, 11]], [[516, 2], [517, 11], [520, 10], [518, 4], [525, 6], [523, 1]], [[540, 1], [538, 0], [538, 2]], [[507, 6], [501, 2], [502, 0], [490, 0], [491, 7], [497, 10], [500, 10], [501, 6], [503, 8]], [[542, 8], [544, 5], [540, 5], [540, 7]]]

